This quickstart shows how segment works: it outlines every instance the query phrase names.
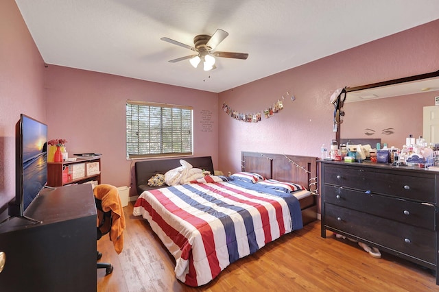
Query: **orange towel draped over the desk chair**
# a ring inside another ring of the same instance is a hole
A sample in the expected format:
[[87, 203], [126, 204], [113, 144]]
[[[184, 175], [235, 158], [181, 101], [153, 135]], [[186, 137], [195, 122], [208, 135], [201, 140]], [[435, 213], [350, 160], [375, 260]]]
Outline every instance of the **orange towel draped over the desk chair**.
[[115, 246], [117, 254], [120, 254], [123, 249], [123, 230], [125, 230], [125, 215], [123, 215], [123, 208], [119, 191], [115, 186], [110, 184], [99, 184], [93, 189], [95, 198], [101, 200], [102, 210], [108, 212], [111, 210], [112, 224], [110, 229], [110, 240]]

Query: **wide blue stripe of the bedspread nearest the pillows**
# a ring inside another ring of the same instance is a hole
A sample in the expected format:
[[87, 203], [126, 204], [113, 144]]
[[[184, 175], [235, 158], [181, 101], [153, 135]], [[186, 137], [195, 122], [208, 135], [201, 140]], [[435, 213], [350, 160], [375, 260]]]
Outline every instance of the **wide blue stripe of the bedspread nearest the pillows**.
[[237, 186], [241, 186], [243, 188], [248, 188], [250, 190], [257, 191], [259, 193], [268, 193], [270, 195], [275, 195], [277, 197], [281, 197], [285, 199], [285, 202], [287, 202], [288, 208], [289, 208], [289, 214], [291, 215], [292, 223], [293, 223], [293, 230], [299, 230], [303, 228], [303, 222], [302, 222], [302, 212], [300, 210], [300, 203], [299, 200], [294, 197], [294, 195], [289, 193], [283, 193], [280, 191], [276, 191], [271, 188], [265, 188], [263, 186], [260, 186], [258, 184], [253, 184], [251, 182], [244, 182], [243, 180], [229, 180], [228, 182], [232, 184], [236, 184]]

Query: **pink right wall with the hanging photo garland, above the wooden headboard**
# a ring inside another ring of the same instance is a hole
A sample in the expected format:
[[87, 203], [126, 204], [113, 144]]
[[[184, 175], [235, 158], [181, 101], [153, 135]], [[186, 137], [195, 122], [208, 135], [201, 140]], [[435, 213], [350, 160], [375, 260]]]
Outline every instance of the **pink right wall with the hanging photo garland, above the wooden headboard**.
[[236, 121], [220, 110], [219, 169], [239, 171], [241, 151], [320, 156], [322, 143], [335, 138], [331, 94], [344, 86], [437, 71], [438, 32], [439, 20], [219, 93], [219, 108], [226, 103], [244, 113], [263, 110], [286, 91], [296, 97], [259, 123]]

